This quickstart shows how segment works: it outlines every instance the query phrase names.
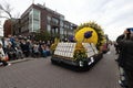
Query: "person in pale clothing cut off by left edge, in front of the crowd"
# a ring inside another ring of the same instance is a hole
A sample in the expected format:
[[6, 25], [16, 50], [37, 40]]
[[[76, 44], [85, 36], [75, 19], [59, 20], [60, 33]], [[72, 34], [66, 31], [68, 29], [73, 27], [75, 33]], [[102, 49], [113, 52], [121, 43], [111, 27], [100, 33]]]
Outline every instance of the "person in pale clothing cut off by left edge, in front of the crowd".
[[0, 43], [0, 63], [2, 63], [3, 66], [11, 65], [11, 64], [8, 64], [7, 61], [6, 61], [6, 54], [3, 52], [1, 43]]

